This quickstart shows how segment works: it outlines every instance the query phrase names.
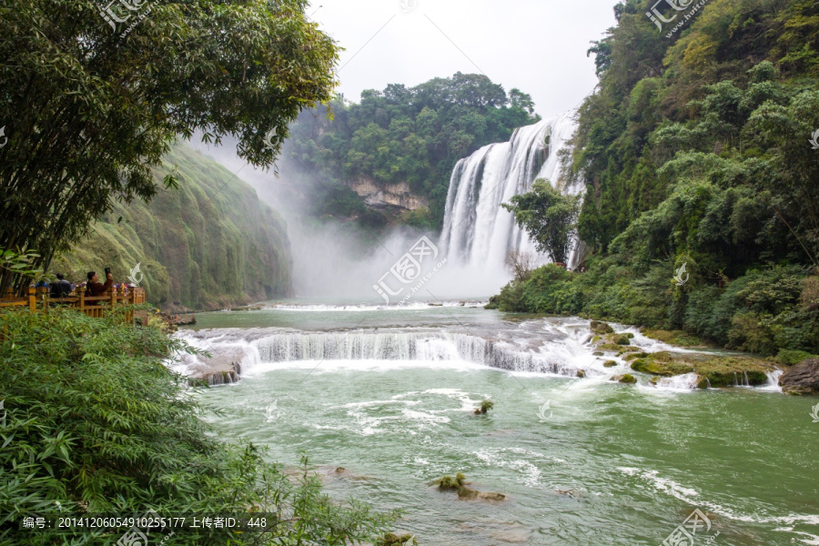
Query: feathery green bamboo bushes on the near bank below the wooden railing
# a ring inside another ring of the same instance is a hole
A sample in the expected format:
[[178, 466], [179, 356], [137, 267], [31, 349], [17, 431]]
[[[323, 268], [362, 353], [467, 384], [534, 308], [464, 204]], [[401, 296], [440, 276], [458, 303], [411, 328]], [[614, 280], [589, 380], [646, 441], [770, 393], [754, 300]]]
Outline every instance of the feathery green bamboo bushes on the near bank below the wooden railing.
[[43, 513], [259, 511], [279, 521], [269, 534], [165, 531], [167, 546], [339, 545], [388, 531], [395, 514], [331, 501], [306, 460], [291, 477], [263, 450], [217, 440], [185, 379], [163, 364], [185, 347], [121, 319], [0, 313], [0, 544], [112, 544], [123, 534], [18, 530]]

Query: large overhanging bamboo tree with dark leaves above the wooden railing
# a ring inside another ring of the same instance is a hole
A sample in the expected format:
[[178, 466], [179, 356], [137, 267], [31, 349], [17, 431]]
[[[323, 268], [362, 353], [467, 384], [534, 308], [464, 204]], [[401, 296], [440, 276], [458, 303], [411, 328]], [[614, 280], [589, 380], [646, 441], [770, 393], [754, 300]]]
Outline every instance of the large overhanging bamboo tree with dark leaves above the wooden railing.
[[0, 248], [36, 249], [35, 266], [116, 200], [153, 197], [151, 167], [177, 136], [236, 136], [241, 157], [269, 165], [289, 122], [332, 96], [338, 48], [307, 0], [114, 5], [0, 6]]

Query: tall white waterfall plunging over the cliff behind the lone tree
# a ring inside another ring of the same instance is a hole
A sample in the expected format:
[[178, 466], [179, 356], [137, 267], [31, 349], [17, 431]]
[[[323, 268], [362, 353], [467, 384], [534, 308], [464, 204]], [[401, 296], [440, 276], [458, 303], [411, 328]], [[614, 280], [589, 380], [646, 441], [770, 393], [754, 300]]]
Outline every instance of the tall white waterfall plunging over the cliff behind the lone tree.
[[549, 179], [564, 193], [575, 192], [561, 180], [559, 157], [574, 133], [574, 114], [521, 127], [509, 142], [482, 147], [458, 162], [440, 239], [450, 261], [470, 269], [501, 268], [509, 252], [535, 250], [501, 203], [531, 190], [538, 178]]

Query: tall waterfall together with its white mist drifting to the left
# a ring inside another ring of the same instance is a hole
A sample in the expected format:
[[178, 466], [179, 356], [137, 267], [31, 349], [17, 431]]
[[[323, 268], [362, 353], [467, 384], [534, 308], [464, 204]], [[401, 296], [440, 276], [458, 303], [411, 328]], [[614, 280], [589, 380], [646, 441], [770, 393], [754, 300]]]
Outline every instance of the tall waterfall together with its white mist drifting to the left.
[[[303, 168], [286, 154], [278, 159], [276, 177], [272, 171], [246, 166], [229, 138], [222, 146], [212, 147], [195, 137], [191, 146], [237, 173], [284, 217], [298, 297], [389, 304], [410, 294], [415, 301], [488, 298], [511, 279], [507, 254], [534, 251], [531, 240], [501, 203], [529, 191], [538, 178], [550, 179], [565, 192], [573, 191], [561, 181], [559, 157], [574, 132], [573, 115], [521, 127], [509, 142], [482, 147], [461, 159], [451, 176], [440, 238], [412, 227], [376, 233], [349, 222], [319, 221], [307, 211], [312, 190], [289, 182], [298, 179], [295, 175], [303, 173]], [[432, 248], [422, 257], [426, 261], [418, 263], [411, 250], [423, 236]], [[538, 260], [548, 261], [543, 256]], [[399, 271], [393, 268], [399, 263], [410, 264], [410, 268], [414, 264], [416, 276], [391, 273]]]

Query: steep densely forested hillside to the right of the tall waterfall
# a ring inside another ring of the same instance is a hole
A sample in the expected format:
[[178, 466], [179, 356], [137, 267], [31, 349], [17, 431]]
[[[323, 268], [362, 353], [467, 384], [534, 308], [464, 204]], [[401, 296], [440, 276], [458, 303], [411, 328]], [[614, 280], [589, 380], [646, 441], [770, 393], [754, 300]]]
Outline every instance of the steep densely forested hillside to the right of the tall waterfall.
[[539, 270], [499, 304], [815, 352], [819, 4], [715, 0], [672, 38], [651, 5], [617, 5], [591, 48], [569, 173], [589, 273]]

